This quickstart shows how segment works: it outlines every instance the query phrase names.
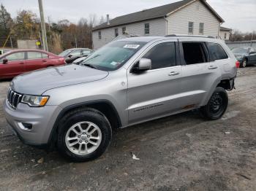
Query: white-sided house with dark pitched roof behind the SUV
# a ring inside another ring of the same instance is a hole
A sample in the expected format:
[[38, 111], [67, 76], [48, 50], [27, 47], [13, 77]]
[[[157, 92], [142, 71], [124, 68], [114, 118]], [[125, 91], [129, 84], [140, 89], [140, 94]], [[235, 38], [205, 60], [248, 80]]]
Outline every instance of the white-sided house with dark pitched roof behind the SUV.
[[218, 38], [222, 23], [222, 17], [206, 0], [184, 0], [108, 20], [94, 27], [92, 40], [94, 49], [98, 49], [121, 34], [194, 34]]

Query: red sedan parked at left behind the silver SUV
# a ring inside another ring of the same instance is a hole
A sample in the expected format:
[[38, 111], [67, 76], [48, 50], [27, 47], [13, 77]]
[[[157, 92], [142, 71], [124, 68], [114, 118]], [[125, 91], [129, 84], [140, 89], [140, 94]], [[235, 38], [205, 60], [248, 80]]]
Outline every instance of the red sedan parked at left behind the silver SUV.
[[0, 56], [0, 79], [63, 64], [63, 57], [43, 50], [13, 50]]

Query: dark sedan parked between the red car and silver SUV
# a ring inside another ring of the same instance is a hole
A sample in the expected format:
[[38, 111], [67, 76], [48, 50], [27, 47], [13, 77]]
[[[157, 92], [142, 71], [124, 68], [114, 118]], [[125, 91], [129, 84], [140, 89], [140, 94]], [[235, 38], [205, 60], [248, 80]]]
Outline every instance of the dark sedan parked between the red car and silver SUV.
[[65, 58], [66, 63], [72, 63], [78, 58], [87, 57], [92, 52], [94, 51], [89, 48], [72, 48], [64, 50], [59, 55]]

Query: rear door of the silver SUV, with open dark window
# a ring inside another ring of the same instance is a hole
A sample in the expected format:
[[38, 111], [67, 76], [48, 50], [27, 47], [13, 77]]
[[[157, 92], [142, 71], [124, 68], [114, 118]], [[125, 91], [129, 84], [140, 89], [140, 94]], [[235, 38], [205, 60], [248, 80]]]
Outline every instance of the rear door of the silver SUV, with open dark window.
[[[214, 82], [219, 78], [217, 63], [210, 61], [205, 42], [180, 40], [182, 66], [182, 107], [197, 108], [205, 103]], [[215, 89], [215, 87], [214, 87]]]

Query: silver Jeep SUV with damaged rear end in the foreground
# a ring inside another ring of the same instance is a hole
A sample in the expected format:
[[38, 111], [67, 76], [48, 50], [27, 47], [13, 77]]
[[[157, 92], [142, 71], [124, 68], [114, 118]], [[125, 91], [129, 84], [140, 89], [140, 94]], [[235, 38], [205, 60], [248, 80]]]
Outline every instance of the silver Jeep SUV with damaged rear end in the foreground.
[[192, 109], [219, 119], [237, 67], [225, 43], [206, 36], [121, 39], [80, 65], [15, 77], [4, 111], [25, 144], [92, 160], [105, 152], [114, 128]]

